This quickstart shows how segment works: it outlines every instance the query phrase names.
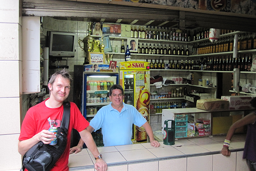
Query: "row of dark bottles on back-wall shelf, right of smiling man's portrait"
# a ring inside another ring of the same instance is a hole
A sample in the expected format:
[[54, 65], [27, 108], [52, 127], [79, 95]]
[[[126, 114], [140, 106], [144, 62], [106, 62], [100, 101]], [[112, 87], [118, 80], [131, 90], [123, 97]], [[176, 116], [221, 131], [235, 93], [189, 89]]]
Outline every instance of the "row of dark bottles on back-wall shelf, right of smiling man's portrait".
[[140, 44], [138, 44], [138, 53], [140, 54], [152, 54], [152, 55], [189, 55], [189, 50], [188, 50], [188, 46], [186, 48], [186, 50], [184, 50], [183, 46], [178, 45], [178, 48], [176, 49], [175, 45], [173, 45], [173, 49], [171, 48], [171, 45], [169, 45], [169, 48], [166, 48], [166, 44], [164, 45], [163, 48], [163, 44], [160, 45], [157, 44], [157, 47], [155, 46], [155, 44], [153, 44], [153, 47], [151, 47], [151, 44], [146, 43], [146, 47], [144, 47], [144, 43], [142, 43], [142, 46], [140, 46]]

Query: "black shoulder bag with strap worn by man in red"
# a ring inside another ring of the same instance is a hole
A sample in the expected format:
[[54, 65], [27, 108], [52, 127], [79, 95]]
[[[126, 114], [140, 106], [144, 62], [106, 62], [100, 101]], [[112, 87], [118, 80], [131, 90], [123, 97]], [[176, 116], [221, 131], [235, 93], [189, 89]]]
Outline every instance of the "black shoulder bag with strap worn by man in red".
[[23, 170], [26, 168], [28, 171], [49, 171], [64, 152], [70, 120], [70, 103], [63, 102], [63, 107], [62, 123], [57, 127], [57, 144], [48, 145], [40, 141], [31, 147], [23, 157]]

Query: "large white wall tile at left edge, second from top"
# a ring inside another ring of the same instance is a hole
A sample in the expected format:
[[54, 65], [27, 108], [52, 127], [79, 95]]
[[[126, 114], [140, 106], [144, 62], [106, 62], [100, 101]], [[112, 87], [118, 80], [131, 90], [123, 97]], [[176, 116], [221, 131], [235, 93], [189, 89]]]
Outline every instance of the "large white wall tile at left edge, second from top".
[[19, 60], [19, 24], [0, 23], [0, 30], [0, 60]]

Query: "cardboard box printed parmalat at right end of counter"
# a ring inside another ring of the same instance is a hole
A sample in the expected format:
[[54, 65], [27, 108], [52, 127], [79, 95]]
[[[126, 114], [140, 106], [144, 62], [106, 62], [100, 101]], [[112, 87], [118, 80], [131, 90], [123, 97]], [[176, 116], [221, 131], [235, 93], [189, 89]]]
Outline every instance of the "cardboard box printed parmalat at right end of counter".
[[221, 99], [229, 101], [229, 109], [251, 109], [252, 98], [254, 96], [221, 96]]

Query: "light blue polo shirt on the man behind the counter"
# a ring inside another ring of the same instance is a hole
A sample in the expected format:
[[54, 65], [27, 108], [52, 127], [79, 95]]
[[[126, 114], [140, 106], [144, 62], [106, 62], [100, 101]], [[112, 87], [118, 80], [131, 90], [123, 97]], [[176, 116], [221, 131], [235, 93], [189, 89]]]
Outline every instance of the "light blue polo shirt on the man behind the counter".
[[94, 132], [102, 128], [104, 146], [132, 144], [132, 124], [141, 127], [146, 119], [132, 105], [125, 103], [121, 112], [111, 105], [102, 107], [90, 121]]

